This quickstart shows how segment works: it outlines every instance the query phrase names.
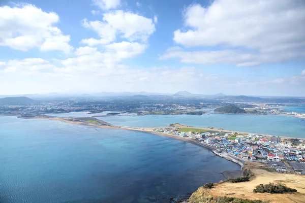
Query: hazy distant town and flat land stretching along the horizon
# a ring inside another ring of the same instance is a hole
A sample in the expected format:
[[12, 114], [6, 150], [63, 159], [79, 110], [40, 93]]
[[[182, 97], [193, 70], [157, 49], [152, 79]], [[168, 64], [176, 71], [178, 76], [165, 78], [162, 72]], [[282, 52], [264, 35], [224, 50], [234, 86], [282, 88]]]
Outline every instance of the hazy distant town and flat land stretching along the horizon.
[[[243, 98], [240, 100], [240, 98]], [[90, 114], [105, 111], [132, 113], [135, 115], [201, 115], [215, 113], [214, 109], [232, 105], [245, 110], [245, 114], [279, 114], [305, 118], [305, 113], [285, 111], [291, 102], [305, 103], [304, 99], [294, 101], [283, 99], [259, 99], [257, 97], [181, 97], [169, 95], [132, 95], [112, 97], [54, 97], [0, 98], [0, 114], [35, 117], [38, 114], [57, 114], [69, 112], [88, 112]], [[270, 102], [268, 102], [270, 101]], [[283, 101], [283, 103], [277, 103]], [[289, 102], [290, 101], [290, 102]]]

